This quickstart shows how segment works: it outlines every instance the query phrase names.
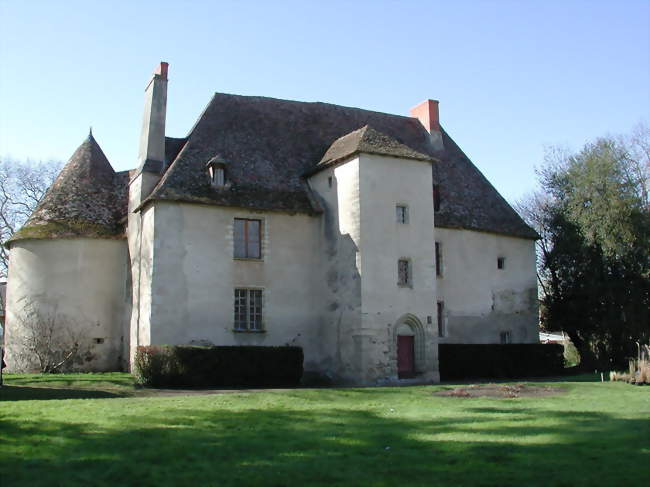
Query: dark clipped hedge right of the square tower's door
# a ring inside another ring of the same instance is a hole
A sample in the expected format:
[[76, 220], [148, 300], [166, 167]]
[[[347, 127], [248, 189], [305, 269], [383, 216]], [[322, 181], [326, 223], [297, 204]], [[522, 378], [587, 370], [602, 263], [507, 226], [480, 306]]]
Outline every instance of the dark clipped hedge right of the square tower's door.
[[441, 380], [511, 379], [561, 374], [564, 347], [558, 344], [440, 344]]

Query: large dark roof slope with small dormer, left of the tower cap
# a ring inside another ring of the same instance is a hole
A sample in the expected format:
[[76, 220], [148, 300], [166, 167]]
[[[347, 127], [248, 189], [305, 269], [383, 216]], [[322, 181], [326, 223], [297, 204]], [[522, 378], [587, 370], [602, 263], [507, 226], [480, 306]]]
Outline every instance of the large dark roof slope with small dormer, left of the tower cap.
[[[364, 125], [415, 150], [428, 143], [419, 122], [409, 117], [217, 93], [149, 199], [313, 212], [304, 174], [332, 142]], [[215, 155], [229, 163], [231, 185], [223, 189], [205, 176], [205, 164]]]

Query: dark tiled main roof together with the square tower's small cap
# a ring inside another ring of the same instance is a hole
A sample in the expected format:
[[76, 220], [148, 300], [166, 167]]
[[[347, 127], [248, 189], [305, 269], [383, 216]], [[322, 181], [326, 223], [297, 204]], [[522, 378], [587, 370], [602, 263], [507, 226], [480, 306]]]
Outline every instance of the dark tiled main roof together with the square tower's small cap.
[[[374, 145], [401, 157], [439, 160], [432, 169], [442, 194], [436, 226], [536, 238], [444, 131], [443, 142], [445, 150], [436, 151], [412, 117], [216, 93], [184, 144], [175, 143], [174, 148], [182, 149], [149, 200], [312, 212], [304, 176], [355, 144], [358, 149], [368, 143], [370, 152]], [[205, 164], [216, 155], [228, 162], [231, 184], [221, 189], [213, 188], [205, 173]]]

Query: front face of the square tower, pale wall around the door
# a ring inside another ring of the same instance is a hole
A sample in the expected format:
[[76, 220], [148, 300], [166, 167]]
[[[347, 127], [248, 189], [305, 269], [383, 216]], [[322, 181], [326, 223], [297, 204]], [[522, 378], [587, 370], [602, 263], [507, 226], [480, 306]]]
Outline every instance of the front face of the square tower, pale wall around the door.
[[[417, 372], [421, 379], [437, 381], [431, 163], [368, 154], [360, 159], [361, 335], [374, 353], [366, 373], [369, 378], [396, 378], [395, 327], [411, 315], [424, 329], [425, 360]], [[398, 204], [408, 207], [406, 224], [397, 222]], [[411, 286], [397, 285], [399, 259], [411, 262]]]

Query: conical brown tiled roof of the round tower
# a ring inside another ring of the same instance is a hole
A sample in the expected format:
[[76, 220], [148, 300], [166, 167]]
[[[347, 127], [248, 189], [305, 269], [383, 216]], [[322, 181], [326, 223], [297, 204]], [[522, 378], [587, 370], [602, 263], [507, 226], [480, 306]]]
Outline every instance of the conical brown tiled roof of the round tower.
[[127, 183], [128, 172], [116, 173], [95, 138], [88, 135], [10, 242], [121, 237]]

